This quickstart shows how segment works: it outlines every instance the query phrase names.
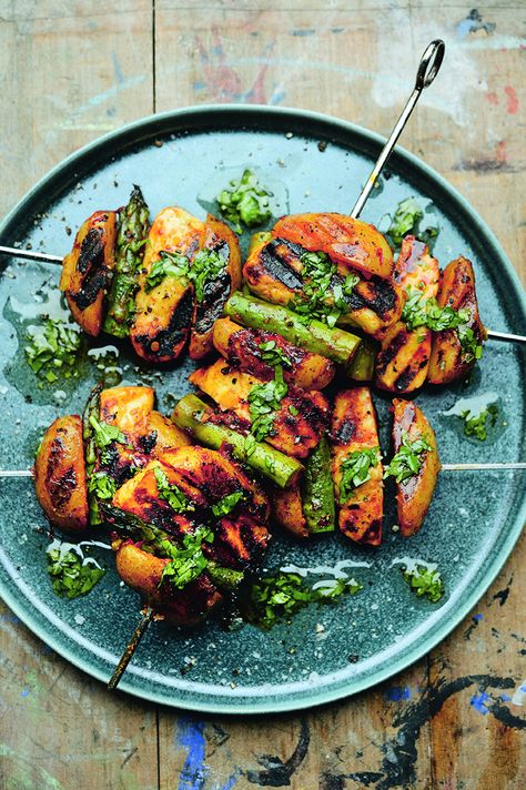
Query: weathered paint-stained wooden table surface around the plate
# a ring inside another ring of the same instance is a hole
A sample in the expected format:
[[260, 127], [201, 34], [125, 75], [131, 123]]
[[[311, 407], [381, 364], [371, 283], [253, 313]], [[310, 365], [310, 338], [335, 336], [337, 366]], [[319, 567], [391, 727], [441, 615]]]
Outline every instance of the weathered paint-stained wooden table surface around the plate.
[[[439, 37], [443, 72], [403, 145], [472, 202], [524, 278], [525, 22], [522, 0], [479, 12], [455, 0], [0, 0], [1, 213], [63, 156], [152, 111], [284, 104], [386, 133]], [[407, 671], [301, 716], [110, 696], [3, 607], [1, 788], [524, 788], [525, 560], [523, 539]]]

